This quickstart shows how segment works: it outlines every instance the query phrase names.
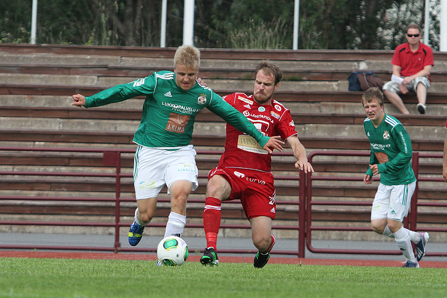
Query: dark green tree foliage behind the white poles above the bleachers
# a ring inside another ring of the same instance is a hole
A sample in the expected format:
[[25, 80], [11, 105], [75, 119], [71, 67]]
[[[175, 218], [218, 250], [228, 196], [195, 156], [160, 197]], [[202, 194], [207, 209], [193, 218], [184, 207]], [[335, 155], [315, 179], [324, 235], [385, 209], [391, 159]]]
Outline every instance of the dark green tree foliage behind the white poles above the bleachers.
[[[27, 43], [31, 0], [0, 1], [0, 42]], [[184, 0], [168, 0], [166, 46], [182, 44]], [[39, 0], [38, 43], [159, 46], [161, 0]], [[440, 0], [431, 0], [431, 46]], [[405, 25], [423, 25], [420, 0], [306, 0], [300, 49], [393, 49]], [[290, 49], [292, 0], [195, 0], [194, 43], [204, 48]]]

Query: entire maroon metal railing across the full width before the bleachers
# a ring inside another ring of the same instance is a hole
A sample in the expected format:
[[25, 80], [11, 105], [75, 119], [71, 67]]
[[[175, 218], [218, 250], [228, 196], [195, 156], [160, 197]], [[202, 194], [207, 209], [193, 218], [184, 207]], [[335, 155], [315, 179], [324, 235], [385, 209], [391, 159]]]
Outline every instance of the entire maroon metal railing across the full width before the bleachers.
[[[20, 152], [78, 152], [78, 153], [102, 153], [102, 165], [105, 167], [114, 168], [114, 172], [52, 172], [52, 171], [0, 171], [0, 175], [14, 175], [14, 176], [56, 176], [56, 177], [108, 177], [114, 178], [114, 197], [67, 197], [67, 196], [4, 196], [0, 195], [0, 200], [6, 201], [77, 201], [77, 202], [112, 202], [114, 203], [114, 221], [113, 222], [66, 222], [66, 221], [0, 221], [2, 225], [54, 225], [54, 226], [98, 226], [98, 227], [113, 227], [114, 228], [114, 243], [110, 246], [65, 246], [65, 245], [12, 245], [0, 244], [0, 249], [56, 249], [56, 250], [95, 250], [95, 251], [114, 251], [114, 252], [155, 252], [156, 247], [121, 247], [120, 243], [120, 227], [127, 227], [131, 223], [121, 222], [121, 203], [135, 202], [135, 198], [121, 197], [121, 185], [123, 178], [132, 178], [131, 173], [122, 173], [122, 154], [134, 153], [134, 149], [78, 149], [78, 148], [22, 148], [22, 147], [0, 147], [1, 151], [20, 151]], [[216, 150], [197, 150], [200, 155], [216, 155], [221, 152]], [[292, 152], [275, 152], [274, 155], [293, 156]], [[341, 151], [341, 150], [315, 150], [312, 151], [308, 159], [312, 162], [315, 156], [370, 156], [369, 151]], [[438, 153], [419, 153], [413, 152], [413, 169], [418, 178], [418, 181], [444, 181], [443, 178], [419, 177], [419, 158], [439, 158], [442, 154]], [[277, 205], [294, 205], [298, 206], [298, 224], [291, 225], [273, 225], [273, 229], [288, 229], [298, 230], [298, 247], [297, 250], [280, 251], [275, 250], [276, 254], [296, 255], [300, 258], [305, 257], [305, 248], [313, 253], [343, 253], [343, 254], [401, 254], [396, 250], [356, 250], [356, 249], [329, 249], [316, 248], [312, 246], [312, 231], [329, 230], [329, 231], [371, 231], [368, 226], [323, 226], [312, 224], [312, 207], [317, 205], [329, 206], [371, 206], [372, 198], [368, 201], [331, 201], [331, 200], [313, 200], [312, 199], [312, 182], [320, 181], [363, 181], [362, 177], [348, 177], [337, 175], [316, 175], [312, 173], [304, 174], [301, 170], [298, 176], [275, 176], [275, 180], [298, 181], [298, 200], [277, 200]], [[207, 175], [199, 175], [199, 178], [207, 178]], [[205, 197], [205, 196], [204, 196]], [[411, 210], [409, 216], [405, 219], [404, 225], [412, 230], [417, 230], [417, 216], [418, 207], [447, 207], [446, 202], [418, 202], [418, 187], [411, 202]], [[159, 197], [158, 202], [170, 202], [169, 198]], [[231, 201], [232, 203], [237, 201]], [[189, 198], [188, 203], [205, 203], [205, 198], [194, 199]], [[226, 203], [226, 202], [224, 202]], [[148, 226], [164, 227], [164, 223], [150, 223]], [[186, 227], [203, 228], [203, 224], [190, 224]], [[221, 224], [221, 228], [243, 228], [249, 229], [249, 224]], [[425, 231], [446, 232], [444, 227], [424, 227]], [[200, 250], [200, 249], [199, 249]], [[249, 250], [238, 249], [221, 249], [223, 253], [247, 253]], [[445, 252], [427, 252], [427, 256], [447, 256]]]

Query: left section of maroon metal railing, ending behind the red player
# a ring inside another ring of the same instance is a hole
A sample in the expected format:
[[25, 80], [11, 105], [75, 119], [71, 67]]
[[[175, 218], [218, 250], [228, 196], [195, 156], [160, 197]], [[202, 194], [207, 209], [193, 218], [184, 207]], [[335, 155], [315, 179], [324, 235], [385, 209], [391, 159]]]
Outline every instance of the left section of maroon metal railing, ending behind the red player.
[[[135, 202], [135, 198], [123, 198], [121, 197], [121, 184], [122, 178], [132, 178], [130, 173], [121, 172], [121, 154], [122, 153], [134, 153], [134, 149], [78, 149], [78, 148], [22, 148], [22, 147], [0, 147], [0, 151], [20, 151], [20, 152], [80, 152], [80, 153], [102, 153], [103, 165], [106, 167], [114, 167], [115, 173], [84, 173], [84, 172], [53, 172], [53, 171], [0, 171], [0, 175], [14, 175], [14, 176], [55, 176], [55, 177], [111, 177], [115, 178], [115, 197], [67, 197], [67, 196], [5, 196], [0, 195], [0, 200], [6, 201], [70, 201], [70, 202], [114, 202], [115, 215], [114, 222], [65, 222], [65, 221], [0, 221], [3, 225], [54, 225], [54, 226], [98, 226], [98, 227], [114, 227], [114, 244], [113, 246], [66, 246], [66, 245], [11, 245], [0, 244], [0, 249], [56, 249], [56, 250], [95, 250], [95, 251], [114, 251], [114, 252], [155, 252], [156, 247], [122, 247], [120, 243], [120, 227], [129, 226], [131, 223], [121, 222], [121, 203], [122, 202]], [[210, 154], [222, 154], [222, 151], [216, 150], [197, 150], [198, 154], [210, 155]], [[274, 155], [293, 156], [292, 152], [277, 152]], [[217, 163], [216, 163], [217, 164]], [[198, 178], [207, 178], [207, 175], [200, 175]], [[286, 205], [298, 205], [303, 206], [304, 192], [305, 192], [305, 175], [299, 176], [275, 176], [275, 180], [293, 180], [298, 181], [298, 195], [300, 200], [294, 201], [277, 201], [277, 204]], [[163, 198], [162, 194], [158, 198], [158, 202], [170, 202], [169, 198]], [[231, 203], [238, 202], [237, 200], [231, 201]], [[205, 196], [203, 199], [188, 198], [188, 203], [203, 203], [205, 204]], [[224, 202], [227, 203], [227, 202]], [[304, 222], [304, 208], [299, 208], [299, 222]], [[164, 227], [163, 223], [150, 223], [151, 227]], [[187, 224], [186, 227], [203, 228], [203, 224]], [[221, 228], [244, 228], [249, 229], [249, 224], [221, 224]], [[300, 235], [304, 235], [304, 225], [273, 225], [274, 229], [292, 229], [299, 230]], [[300, 238], [301, 239], [301, 238]], [[292, 251], [277, 251], [280, 254], [299, 255], [304, 249], [304, 241], [299, 242], [300, 249]], [[221, 252], [228, 253], [247, 253], [248, 250], [237, 249], [221, 249]]]

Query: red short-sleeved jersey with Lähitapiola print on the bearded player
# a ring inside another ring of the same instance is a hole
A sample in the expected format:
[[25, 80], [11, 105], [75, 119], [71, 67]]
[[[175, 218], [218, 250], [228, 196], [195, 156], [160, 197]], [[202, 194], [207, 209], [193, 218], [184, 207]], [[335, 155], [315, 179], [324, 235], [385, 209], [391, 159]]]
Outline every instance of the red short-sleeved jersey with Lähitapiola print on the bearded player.
[[[233, 93], [224, 100], [245, 115], [265, 136], [281, 136], [283, 140], [297, 135], [290, 110], [276, 100], [260, 105], [253, 95]], [[231, 125], [226, 125], [225, 152], [219, 166], [236, 167], [270, 172], [271, 156], [252, 137], [241, 133]]]

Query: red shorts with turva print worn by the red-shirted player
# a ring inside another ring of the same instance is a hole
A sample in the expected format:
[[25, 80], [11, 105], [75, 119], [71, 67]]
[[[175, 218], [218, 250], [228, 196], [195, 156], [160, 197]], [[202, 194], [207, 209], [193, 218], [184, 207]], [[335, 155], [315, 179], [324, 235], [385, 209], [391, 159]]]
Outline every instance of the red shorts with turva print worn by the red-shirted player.
[[272, 173], [248, 171], [235, 168], [216, 167], [208, 174], [223, 175], [231, 185], [231, 194], [227, 200], [242, 203], [247, 219], [267, 216], [275, 219], [275, 185]]

